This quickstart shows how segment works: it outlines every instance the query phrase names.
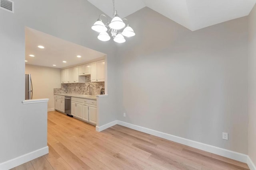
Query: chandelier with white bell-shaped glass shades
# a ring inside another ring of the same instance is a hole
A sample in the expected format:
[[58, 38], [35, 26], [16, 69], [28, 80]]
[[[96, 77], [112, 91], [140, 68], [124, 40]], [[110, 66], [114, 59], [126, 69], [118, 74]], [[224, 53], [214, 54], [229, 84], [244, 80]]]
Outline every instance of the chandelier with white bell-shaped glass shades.
[[[110, 32], [111, 36], [113, 37], [113, 40], [116, 43], [124, 43], [126, 40], [124, 37], [133, 37], [135, 35], [132, 27], [129, 26], [128, 20], [121, 19], [117, 11], [115, 10], [115, 1], [113, 2], [113, 16], [114, 18], [111, 20], [111, 22], [108, 22], [108, 18], [104, 14], [100, 14], [98, 20], [92, 25], [92, 30], [99, 32], [98, 39], [100, 41], [108, 41], [111, 39], [108, 32]], [[104, 16], [107, 20], [106, 24], [102, 22], [100, 17]], [[124, 23], [124, 21], [127, 22], [127, 24]], [[124, 28], [125, 27], [125, 28]], [[124, 29], [123, 29], [124, 28]], [[123, 30], [122, 30], [123, 29]]]

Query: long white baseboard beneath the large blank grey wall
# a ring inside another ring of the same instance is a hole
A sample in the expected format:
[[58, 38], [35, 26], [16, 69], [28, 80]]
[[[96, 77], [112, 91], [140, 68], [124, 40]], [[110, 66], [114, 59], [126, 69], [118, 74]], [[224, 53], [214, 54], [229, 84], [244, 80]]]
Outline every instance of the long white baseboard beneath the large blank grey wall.
[[214, 147], [212, 145], [207, 145], [207, 144], [204, 144], [204, 143], [192, 141], [192, 140], [185, 139], [185, 138], [182, 138], [182, 137], [177, 137], [177, 136], [170, 135], [170, 134], [167, 134], [167, 133], [163, 133], [163, 132], [160, 132], [160, 131], [155, 131], [155, 130], [152, 130], [152, 129], [148, 129], [146, 127], [133, 125], [131, 123], [126, 123], [124, 121], [117, 121], [117, 124], [122, 125], [124, 127], [128, 127], [130, 129], [140, 131], [140, 132], [148, 133], [150, 135], [161, 137], [161, 138], [167, 139], [169, 141], [174, 141], [174, 142], [177, 142], [177, 143], [180, 143], [180, 144], [183, 144], [183, 145], [187, 145], [187, 146], [190, 146], [190, 147], [193, 147], [193, 148], [196, 148], [196, 149], [204, 150], [206, 152], [211, 152], [211, 153], [214, 153], [214, 154], [218, 154], [218, 155], [224, 156], [226, 158], [238, 160], [240, 162], [246, 163], [247, 160], [248, 160], [247, 159], [248, 156], [246, 154], [242, 154], [242, 153], [239, 153], [239, 152], [234, 152], [232, 150], [227, 150], [227, 149], [222, 149], [222, 148], [219, 148], [219, 147]]

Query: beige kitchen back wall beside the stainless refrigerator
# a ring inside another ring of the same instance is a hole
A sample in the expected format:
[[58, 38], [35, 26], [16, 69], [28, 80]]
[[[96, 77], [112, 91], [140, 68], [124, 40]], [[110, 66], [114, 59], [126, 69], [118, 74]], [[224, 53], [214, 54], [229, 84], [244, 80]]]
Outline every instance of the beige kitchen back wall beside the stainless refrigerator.
[[31, 74], [33, 99], [48, 98], [48, 109], [54, 109], [54, 88], [60, 88], [60, 68], [26, 64], [25, 73]]

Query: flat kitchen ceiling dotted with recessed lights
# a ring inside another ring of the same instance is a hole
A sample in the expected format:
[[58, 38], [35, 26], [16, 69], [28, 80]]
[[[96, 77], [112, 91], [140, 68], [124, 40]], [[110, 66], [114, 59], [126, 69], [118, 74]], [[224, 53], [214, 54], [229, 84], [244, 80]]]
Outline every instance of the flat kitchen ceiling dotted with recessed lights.
[[[37, 46], [42, 45], [45, 48], [40, 49]], [[86, 63], [104, 57], [104, 53], [77, 45], [52, 35], [36, 31], [26, 27], [25, 29], [25, 60], [26, 64], [64, 68], [80, 63]], [[30, 57], [29, 55], [35, 55]], [[81, 58], [76, 57], [82, 56]], [[67, 63], [63, 63], [66, 61]], [[52, 66], [56, 64], [56, 66]]]

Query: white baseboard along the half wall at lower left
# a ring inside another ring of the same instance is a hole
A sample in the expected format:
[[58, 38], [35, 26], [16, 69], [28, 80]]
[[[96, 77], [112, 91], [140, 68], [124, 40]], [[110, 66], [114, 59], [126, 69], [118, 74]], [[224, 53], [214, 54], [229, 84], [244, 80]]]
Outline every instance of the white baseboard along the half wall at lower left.
[[49, 153], [48, 146], [44, 147], [44, 148], [41, 148], [41, 149], [38, 149], [38, 150], [35, 150], [33, 152], [24, 154], [24, 155], [19, 156], [17, 158], [14, 158], [14, 159], [8, 160], [6, 162], [0, 163], [0, 170], [12, 169], [16, 166], [24, 164], [24, 163], [26, 163], [30, 160], [33, 160], [35, 158], [38, 158], [38, 157], [43, 156], [43, 155], [48, 154], [48, 153]]

